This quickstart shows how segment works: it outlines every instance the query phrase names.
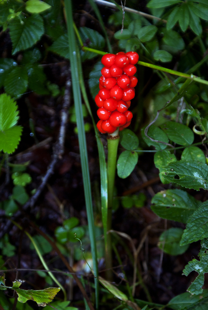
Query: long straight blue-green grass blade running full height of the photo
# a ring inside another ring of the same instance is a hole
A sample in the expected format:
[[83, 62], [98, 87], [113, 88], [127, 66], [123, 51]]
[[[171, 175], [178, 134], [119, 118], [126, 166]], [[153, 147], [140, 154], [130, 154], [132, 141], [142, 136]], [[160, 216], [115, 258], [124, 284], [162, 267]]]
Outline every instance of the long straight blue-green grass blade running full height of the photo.
[[72, 1], [71, 0], [65, 0], [65, 10], [66, 10], [66, 21], [67, 21], [67, 30], [68, 30], [71, 74], [72, 74], [72, 90], [73, 90], [73, 95], [74, 95], [76, 122], [77, 122], [78, 139], [79, 139], [79, 146], [80, 146], [82, 177], [83, 177], [86, 212], [87, 212], [89, 235], [90, 235], [91, 253], [92, 253], [92, 259], [93, 259], [93, 269], [94, 269], [94, 274], [95, 274], [95, 299], [96, 299], [96, 308], [98, 309], [99, 283], [97, 280], [98, 266], [97, 266], [97, 250], [96, 250], [96, 242], [95, 242], [95, 225], [94, 225], [94, 216], [93, 216], [93, 207], [92, 207], [92, 195], [91, 195], [91, 186], [90, 186], [90, 173], [89, 173], [89, 166], [88, 166], [86, 135], [85, 135], [84, 120], [83, 120], [82, 107], [81, 107], [81, 103], [82, 103], [81, 90], [80, 90], [80, 84], [79, 84], [76, 41], [75, 41], [75, 34], [73, 30], [73, 16], [72, 16]]

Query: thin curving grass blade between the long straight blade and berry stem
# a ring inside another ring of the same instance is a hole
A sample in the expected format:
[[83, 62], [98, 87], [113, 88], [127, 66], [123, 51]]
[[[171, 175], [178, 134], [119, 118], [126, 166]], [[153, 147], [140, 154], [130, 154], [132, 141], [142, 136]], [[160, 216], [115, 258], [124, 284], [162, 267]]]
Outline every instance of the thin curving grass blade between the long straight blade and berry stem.
[[105, 152], [104, 152], [104, 147], [101, 142], [97, 126], [95, 124], [92, 111], [90, 108], [89, 100], [87, 97], [86, 89], [85, 89], [85, 83], [83, 79], [83, 74], [82, 74], [82, 68], [81, 68], [81, 59], [80, 59], [80, 53], [77, 51], [78, 55], [78, 72], [79, 72], [79, 81], [80, 81], [80, 87], [81, 87], [81, 92], [82, 96], [84, 98], [86, 107], [88, 109], [88, 112], [92, 118], [92, 123], [93, 127], [95, 130], [95, 138], [97, 141], [97, 146], [98, 146], [98, 155], [99, 155], [99, 165], [100, 165], [100, 193], [101, 193], [101, 212], [102, 212], [102, 222], [103, 222], [103, 230], [104, 230], [104, 242], [105, 246], [107, 244], [107, 220], [108, 220], [108, 177], [107, 177], [107, 166], [106, 166], [106, 161], [105, 161]]

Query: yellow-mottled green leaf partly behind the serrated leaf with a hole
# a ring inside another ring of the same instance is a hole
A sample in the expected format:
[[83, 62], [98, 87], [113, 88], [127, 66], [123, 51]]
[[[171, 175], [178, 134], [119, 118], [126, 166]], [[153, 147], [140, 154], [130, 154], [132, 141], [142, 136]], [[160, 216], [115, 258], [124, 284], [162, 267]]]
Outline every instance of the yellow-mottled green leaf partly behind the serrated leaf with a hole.
[[[166, 180], [162, 176], [161, 172], [165, 171], [164, 166], [167, 166], [169, 162], [176, 162], [177, 159], [174, 154], [171, 154], [170, 151], [159, 151], [154, 155], [155, 167], [159, 169], [159, 177], [163, 184], [167, 184]], [[169, 183], [169, 182], [168, 182]]]

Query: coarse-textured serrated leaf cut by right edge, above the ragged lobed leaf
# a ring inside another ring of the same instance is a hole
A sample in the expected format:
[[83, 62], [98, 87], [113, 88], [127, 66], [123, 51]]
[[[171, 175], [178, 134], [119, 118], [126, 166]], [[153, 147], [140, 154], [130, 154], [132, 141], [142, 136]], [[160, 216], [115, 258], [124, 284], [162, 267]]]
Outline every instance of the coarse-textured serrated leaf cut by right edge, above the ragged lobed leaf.
[[208, 238], [208, 201], [204, 201], [188, 219], [181, 245], [204, 238]]

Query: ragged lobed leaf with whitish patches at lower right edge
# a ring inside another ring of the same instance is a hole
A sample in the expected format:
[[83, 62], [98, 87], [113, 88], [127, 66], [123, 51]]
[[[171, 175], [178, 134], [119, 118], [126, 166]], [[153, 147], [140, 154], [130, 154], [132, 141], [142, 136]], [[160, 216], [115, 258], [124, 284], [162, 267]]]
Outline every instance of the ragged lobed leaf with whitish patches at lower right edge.
[[195, 270], [199, 274], [187, 289], [187, 291], [191, 294], [201, 294], [203, 292], [202, 286], [204, 285], [204, 273], [208, 272], [207, 249], [208, 242], [206, 239], [204, 241], [201, 241], [201, 250], [198, 255], [200, 257], [200, 261], [198, 261], [197, 259], [192, 259], [192, 261], [188, 262], [186, 267], [183, 269], [183, 274], [185, 274], [186, 276], [193, 270]]

